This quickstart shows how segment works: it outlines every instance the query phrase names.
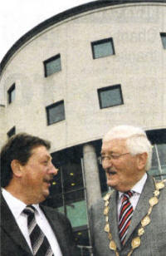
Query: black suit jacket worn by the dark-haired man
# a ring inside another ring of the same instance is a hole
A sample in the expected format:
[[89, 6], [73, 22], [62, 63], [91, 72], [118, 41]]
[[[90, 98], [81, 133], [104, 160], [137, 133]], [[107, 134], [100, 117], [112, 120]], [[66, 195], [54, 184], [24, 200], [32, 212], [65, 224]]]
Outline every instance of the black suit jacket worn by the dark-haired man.
[[[64, 256], [78, 255], [71, 231], [71, 224], [66, 217], [50, 207], [41, 206], [56, 234], [61, 253]], [[21, 230], [1, 194], [1, 256], [32, 256]]]

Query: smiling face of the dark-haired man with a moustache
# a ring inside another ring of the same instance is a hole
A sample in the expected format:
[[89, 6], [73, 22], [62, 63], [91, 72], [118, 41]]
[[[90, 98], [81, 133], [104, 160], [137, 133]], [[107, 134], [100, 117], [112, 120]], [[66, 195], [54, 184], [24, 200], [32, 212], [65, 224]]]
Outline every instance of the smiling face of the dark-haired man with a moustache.
[[[39, 145], [32, 149], [26, 165], [20, 165], [20, 199], [26, 204], [38, 204], [49, 195], [49, 187], [57, 170], [51, 163], [46, 147]], [[19, 192], [19, 193], [20, 193]]]

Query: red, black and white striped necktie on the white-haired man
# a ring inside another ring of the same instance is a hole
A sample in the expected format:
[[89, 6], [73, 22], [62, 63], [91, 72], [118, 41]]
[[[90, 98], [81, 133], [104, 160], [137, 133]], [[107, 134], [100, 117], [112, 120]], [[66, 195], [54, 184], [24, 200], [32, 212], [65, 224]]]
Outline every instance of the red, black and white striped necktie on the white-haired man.
[[119, 217], [119, 231], [121, 244], [124, 244], [125, 236], [127, 234], [129, 224], [131, 222], [131, 218], [133, 215], [133, 206], [129, 202], [129, 198], [133, 196], [133, 194], [133, 192], [127, 191], [124, 193], [124, 197], [122, 199]]

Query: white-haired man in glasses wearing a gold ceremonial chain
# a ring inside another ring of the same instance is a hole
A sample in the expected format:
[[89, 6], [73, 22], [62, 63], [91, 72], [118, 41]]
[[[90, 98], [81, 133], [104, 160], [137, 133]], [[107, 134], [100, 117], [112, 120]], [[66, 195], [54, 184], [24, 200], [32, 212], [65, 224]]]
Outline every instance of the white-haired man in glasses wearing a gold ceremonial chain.
[[165, 256], [166, 187], [147, 174], [152, 146], [144, 130], [116, 126], [101, 161], [113, 188], [90, 209], [95, 256]]

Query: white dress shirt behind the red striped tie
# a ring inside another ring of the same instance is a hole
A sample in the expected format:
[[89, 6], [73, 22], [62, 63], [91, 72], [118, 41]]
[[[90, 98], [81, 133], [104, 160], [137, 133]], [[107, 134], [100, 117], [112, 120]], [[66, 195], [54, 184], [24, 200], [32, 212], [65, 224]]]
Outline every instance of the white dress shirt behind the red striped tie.
[[[136, 208], [138, 202], [139, 202], [139, 197], [140, 197], [140, 194], [142, 193], [142, 190], [144, 188], [144, 184], [146, 182], [146, 179], [147, 179], [147, 174], [145, 173], [143, 175], [143, 177], [134, 185], [134, 187], [131, 189], [131, 191], [134, 192], [134, 195], [129, 199], [130, 203], [132, 204], [133, 206], [133, 209]], [[123, 195], [124, 193], [120, 192], [119, 191], [119, 199], [118, 199], [118, 219], [119, 219], [119, 216], [120, 216], [120, 207], [121, 207], [121, 204], [122, 204], [122, 199], [123, 199]]]

